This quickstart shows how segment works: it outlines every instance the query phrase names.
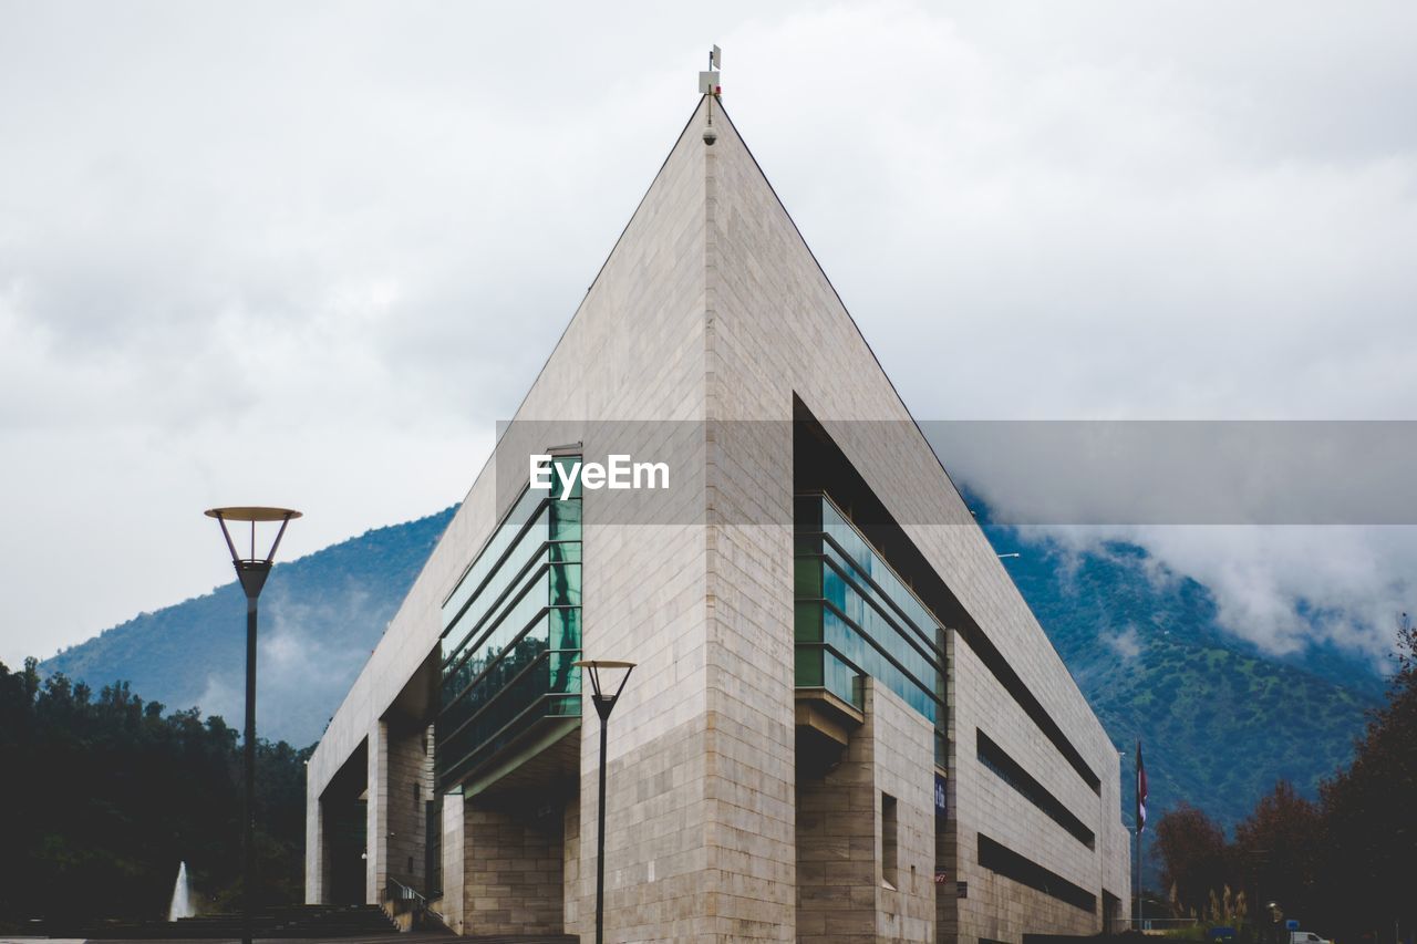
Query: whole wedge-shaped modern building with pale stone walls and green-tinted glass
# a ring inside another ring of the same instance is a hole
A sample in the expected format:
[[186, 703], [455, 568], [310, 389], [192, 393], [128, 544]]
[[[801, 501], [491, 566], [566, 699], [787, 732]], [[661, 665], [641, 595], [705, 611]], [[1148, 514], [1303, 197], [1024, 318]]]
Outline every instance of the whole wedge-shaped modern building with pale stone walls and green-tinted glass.
[[[670, 488], [529, 488], [614, 454]], [[1117, 750], [711, 98], [310, 760], [307, 899], [591, 940], [582, 656], [638, 663], [606, 940], [1020, 941], [1129, 899]]]

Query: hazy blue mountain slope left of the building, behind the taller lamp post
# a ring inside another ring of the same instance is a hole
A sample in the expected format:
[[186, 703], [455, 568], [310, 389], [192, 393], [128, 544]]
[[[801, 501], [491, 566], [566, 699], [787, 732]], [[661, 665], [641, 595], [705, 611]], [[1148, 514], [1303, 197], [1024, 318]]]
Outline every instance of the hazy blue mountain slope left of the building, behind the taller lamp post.
[[[261, 737], [300, 747], [319, 740], [453, 510], [370, 530], [272, 568], [261, 594]], [[170, 709], [198, 706], [239, 727], [245, 638], [245, 597], [232, 580], [105, 629], [40, 669], [95, 690], [123, 679], [149, 700]]]

